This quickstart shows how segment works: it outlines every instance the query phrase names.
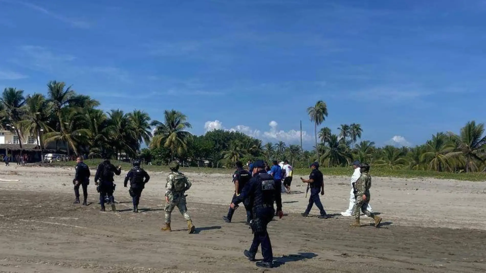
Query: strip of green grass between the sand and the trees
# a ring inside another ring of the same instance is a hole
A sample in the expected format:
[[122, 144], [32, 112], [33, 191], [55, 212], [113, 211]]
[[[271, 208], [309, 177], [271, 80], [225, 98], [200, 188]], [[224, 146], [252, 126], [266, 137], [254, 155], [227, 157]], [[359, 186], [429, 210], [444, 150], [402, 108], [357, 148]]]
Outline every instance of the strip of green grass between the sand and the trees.
[[[118, 160], [111, 161], [114, 165], [118, 165]], [[101, 163], [100, 159], [87, 159], [85, 163], [91, 168], [96, 169], [96, 166]], [[52, 163], [54, 167], [74, 167], [76, 165], [75, 161], [70, 162], [55, 162]], [[122, 170], [130, 170], [131, 164], [126, 162], [121, 162]], [[155, 166], [155, 165], [144, 165], [142, 166], [147, 171], [169, 171], [167, 166]], [[188, 172], [203, 172], [203, 173], [233, 173], [233, 169], [213, 169], [213, 168], [181, 168], [181, 171]], [[335, 175], [335, 176], [351, 176], [352, 168], [321, 168], [324, 175]], [[486, 173], [479, 172], [469, 172], [469, 173], [451, 173], [451, 172], [437, 172], [437, 171], [411, 171], [411, 170], [387, 170], [381, 168], [371, 168], [371, 175], [377, 177], [401, 177], [401, 178], [420, 178], [420, 177], [433, 177], [439, 179], [454, 179], [462, 181], [486, 181]], [[310, 173], [310, 169], [295, 169], [294, 176], [307, 176]]]

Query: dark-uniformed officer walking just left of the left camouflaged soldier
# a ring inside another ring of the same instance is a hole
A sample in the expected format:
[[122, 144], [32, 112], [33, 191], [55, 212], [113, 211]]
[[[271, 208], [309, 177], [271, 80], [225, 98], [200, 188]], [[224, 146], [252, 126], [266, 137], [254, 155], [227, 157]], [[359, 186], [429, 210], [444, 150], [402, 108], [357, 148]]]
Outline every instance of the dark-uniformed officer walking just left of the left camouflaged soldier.
[[132, 163], [133, 168], [125, 175], [123, 186], [126, 188], [128, 180], [130, 180], [130, 189], [128, 192], [133, 201], [133, 212], [139, 212], [140, 195], [142, 194], [145, 183], [149, 182], [149, 174], [140, 168], [140, 160], [136, 159]]

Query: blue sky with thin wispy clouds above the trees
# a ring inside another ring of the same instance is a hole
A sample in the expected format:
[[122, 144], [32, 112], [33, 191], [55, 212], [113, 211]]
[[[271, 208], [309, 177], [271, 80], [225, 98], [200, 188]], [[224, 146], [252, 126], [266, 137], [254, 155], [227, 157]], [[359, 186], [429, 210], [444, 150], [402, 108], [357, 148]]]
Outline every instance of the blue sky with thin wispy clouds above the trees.
[[486, 116], [485, 0], [0, 0], [0, 37], [1, 88], [64, 81], [198, 135], [298, 143], [302, 120], [311, 148], [317, 100], [377, 145]]

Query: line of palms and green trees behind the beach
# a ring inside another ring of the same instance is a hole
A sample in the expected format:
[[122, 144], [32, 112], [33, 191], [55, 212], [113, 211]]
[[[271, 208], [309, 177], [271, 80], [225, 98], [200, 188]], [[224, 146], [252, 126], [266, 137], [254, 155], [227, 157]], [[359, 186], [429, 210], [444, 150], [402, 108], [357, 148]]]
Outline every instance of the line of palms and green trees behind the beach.
[[[433, 171], [481, 171], [485, 166], [486, 136], [484, 124], [469, 121], [456, 135], [437, 133], [416, 147], [376, 147], [361, 140], [359, 123], [342, 124], [337, 134], [329, 127], [318, 130], [328, 116], [326, 102], [318, 101], [307, 109], [314, 123], [315, 146], [304, 151], [300, 145], [262, 143], [240, 132], [213, 130], [192, 135], [188, 117], [165, 110], [163, 120], [152, 120], [142, 110], [124, 113], [120, 109], [104, 112], [100, 102], [79, 94], [64, 82], [47, 84], [47, 95], [25, 95], [13, 87], [4, 89], [0, 102], [0, 127], [22, 137], [39, 137], [40, 146], [67, 143], [75, 155], [101, 157], [127, 154], [152, 164], [167, 164], [178, 159], [190, 166], [230, 167], [237, 160], [289, 160], [295, 167], [307, 167], [318, 161], [324, 167], [345, 167], [360, 160], [389, 169]], [[360, 140], [358, 142], [358, 140]], [[148, 148], [141, 149], [145, 143]], [[202, 163], [201, 163], [202, 162]]]

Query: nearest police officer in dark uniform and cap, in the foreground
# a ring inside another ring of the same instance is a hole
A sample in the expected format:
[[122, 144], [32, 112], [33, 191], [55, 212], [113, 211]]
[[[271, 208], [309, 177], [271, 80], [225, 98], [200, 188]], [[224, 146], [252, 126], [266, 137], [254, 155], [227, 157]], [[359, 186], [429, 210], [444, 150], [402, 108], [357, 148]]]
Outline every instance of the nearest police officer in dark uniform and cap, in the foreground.
[[250, 198], [250, 205], [253, 209], [253, 220], [250, 227], [253, 230], [253, 242], [249, 250], [243, 252], [250, 261], [255, 261], [255, 255], [261, 243], [261, 254], [263, 261], [257, 262], [258, 267], [273, 267], [273, 253], [270, 237], [267, 232], [267, 224], [272, 221], [275, 214], [274, 202], [277, 203], [277, 214], [282, 218], [281, 184], [275, 183], [270, 174], [265, 171], [263, 161], [259, 160], [253, 164], [253, 177], [243, 188], [240, 196], [237, 196], [230, 207], [235, 208], [246, 198]]

